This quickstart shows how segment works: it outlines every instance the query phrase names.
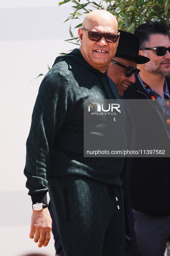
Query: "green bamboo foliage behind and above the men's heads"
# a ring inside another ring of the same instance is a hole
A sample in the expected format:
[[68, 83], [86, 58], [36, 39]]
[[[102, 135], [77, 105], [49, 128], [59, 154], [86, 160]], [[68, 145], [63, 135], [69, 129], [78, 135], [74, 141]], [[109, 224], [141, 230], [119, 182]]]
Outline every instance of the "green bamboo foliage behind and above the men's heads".
[[[83, 3], [82, 3], [83, 1]], [[80, 19], [81, 23], [75, 28], [81, 27], [85, 14], [95, 9], [104, 9], [116, 16], [119, 29], [133, 33], [136, 27], [145, 22], [159, 21], [167, 23], [170, 29], [170, 0], [64, 0], [63, 5], [70, 2], [73, 12], [66, 21]], [[65, 22], [66, 22], [65, 21]], [[69, 28], [71, 38], [66, 40], [79, 45], [79, 40], [73, 36], [72, 28]]]

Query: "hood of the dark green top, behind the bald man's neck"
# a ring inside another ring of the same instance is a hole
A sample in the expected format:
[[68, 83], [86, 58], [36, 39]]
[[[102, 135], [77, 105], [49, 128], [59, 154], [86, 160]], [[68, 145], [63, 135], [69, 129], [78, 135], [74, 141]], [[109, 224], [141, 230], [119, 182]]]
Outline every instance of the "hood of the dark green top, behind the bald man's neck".
[[70, 52], [66, 55], [56, 57], [56, 60], [53, 64], [53, 66], [55, 64], [57, 64], [58, 62], [60, 62], [60, 61], [66, 61], [67, 62], [69, 60], [78, 62], [80, 65], [83, 65], [86, 68], [92, 70], [93, 72], [98, 73], [98, 75], [100, 75], [100, 76], [106, 76], [107, 75], [107, 71], [105, 71], [105, 73], [102, 73], [98, 69], [95, 69], [90, 64], [88, 64], [86, 62], [86, 60], [84, 59], [83, 55], [81, 54], [81, 51], [79, 51], [79, 49], [74, 49], [72, 52]]

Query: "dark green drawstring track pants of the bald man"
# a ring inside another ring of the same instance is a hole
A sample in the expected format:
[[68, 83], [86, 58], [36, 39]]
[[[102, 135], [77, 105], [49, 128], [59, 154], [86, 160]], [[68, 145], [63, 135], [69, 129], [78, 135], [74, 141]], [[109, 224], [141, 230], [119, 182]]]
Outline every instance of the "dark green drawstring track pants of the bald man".
[[49, 179], [48, 187], [66, 256], [125, 255], [120, 186], [67, 176]]

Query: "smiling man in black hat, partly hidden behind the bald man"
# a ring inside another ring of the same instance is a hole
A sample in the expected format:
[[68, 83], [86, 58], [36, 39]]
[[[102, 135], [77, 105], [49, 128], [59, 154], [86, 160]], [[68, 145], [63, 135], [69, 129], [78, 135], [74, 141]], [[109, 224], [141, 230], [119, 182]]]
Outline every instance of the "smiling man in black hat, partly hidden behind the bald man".
[[[115, 57], [111, 60], [107, 71], [108, 76], [115, 82], [119, 96], [122, 97], [124, 91], [127, 87], [135, 82], [135, 76], [140, 72], [136, 68], [136, 64], [144, 64], [149, 61], [147, 57], [138, 55], [140, 40], [137, 36], [134, 36], [131, 33], [119, 30], [120, 38], [119, 44]], [[131, 119], [129, 113], [126, 113], [127, 119]], [[126, 122], [127, 125], [127, 122]], [[129, 134], [127, 137], [130, 138], [131, 143], [134, 144], [133, 140], [133, 129], [129, 129]], [[126, 224], [126, 235], [131, 238], [131, 250], [128, 254], [129, 256], [138, 256], [137, 245], [135, 241], [135, 232], [134, 232], [134, 222], [133, 215], [131, 211], [131, 203], [129, 200], [129, 179], [130, 179], [130, 168], [131, 168], [131, 158], [125, 158], [124, 168], [122, 173], [119, 175], [123, 182], [123, 196], [124, 196], [124, 208], [125, 208], [125, 224]], [[125, 182], [126, 181], [126, 182]], [[55, 249], [56, 255], [64, 256], [62, 245], [60, 242], [60, 237], [58, 229], [55, 223], [54, 214], [52, 211], [51, 204], [49, 203], [49, 212], [53, 221], [52, 232], [55, 240]]]

